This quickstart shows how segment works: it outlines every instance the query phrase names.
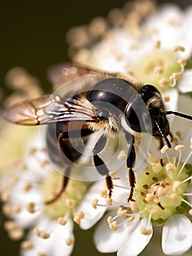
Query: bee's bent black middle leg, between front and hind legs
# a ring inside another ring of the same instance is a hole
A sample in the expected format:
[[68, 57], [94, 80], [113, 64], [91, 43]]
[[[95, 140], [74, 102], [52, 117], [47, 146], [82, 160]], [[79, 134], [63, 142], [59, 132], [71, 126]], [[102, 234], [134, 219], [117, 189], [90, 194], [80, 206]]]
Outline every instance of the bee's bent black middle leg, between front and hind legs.
[[105, 165], [104, 161], [99, 157], [99, 153], [104, 149], [105, 145], [107, 143], [107, 138], [102, 135], [101, 138], [99, 138], [98, 142], [93, 148], [93, 161], [96, 166], [96, 170], [103, 175], [106, 176], [106, 184], [107, 184], [107, 189], [109, 190], [109, 197], [112, 196], [112, 189], [113, 189], [113, 184], [112, 184], [112, 178], [109, 175], [109, 169]]

